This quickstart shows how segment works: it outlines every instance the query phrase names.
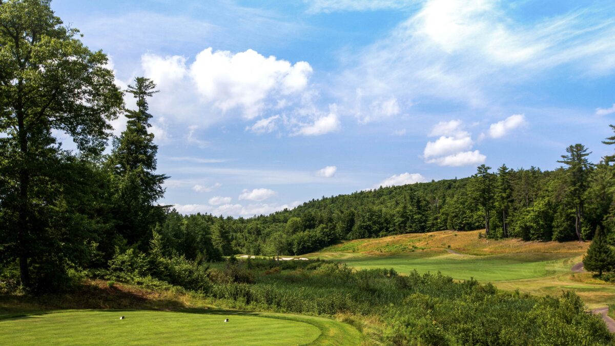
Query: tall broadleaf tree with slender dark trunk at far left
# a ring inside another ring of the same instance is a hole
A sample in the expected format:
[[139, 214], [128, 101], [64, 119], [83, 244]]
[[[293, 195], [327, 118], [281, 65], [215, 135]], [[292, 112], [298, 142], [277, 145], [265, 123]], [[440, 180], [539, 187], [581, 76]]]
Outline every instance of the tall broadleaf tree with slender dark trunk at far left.
[[[67, 134], [82, 158], [101, 154], [122, 107], [122, 94], [106, 68], [107, 57], [92, 52], [63, 26], [48, 0], [0, 1], [0, 164], [4, 175], [2, 214], [14, 237], [5, 255], [17, 258], [20, 281], [31, 286], [29, 260], [53, 254], [57, 239], [46, 228], [58, 201], [47, 187], [71, 183], [58, 176], [72, 153], [61, 150], [52, 131]], [[61, 174], [60, 174], [61, 175]], [[59, 184], [59, 185], [58, 185]], [[70, 212], [70, 211], [68, 211]], [[46, 250], [47, 249], [47, 250]]]

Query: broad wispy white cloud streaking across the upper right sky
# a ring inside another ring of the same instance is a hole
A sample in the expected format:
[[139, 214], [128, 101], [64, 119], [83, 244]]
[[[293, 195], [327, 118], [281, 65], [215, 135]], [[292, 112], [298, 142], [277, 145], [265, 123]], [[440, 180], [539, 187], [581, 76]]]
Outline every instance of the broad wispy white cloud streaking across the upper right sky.
[[613, 4], [524, 22], [496, 0], [417, 6], [385, 38], [346, 57], [347, 68], [332, 88], [347, 100], [338, 102], [343, 112], [369, 114], [371, 102], [393, 98], [399, 113], [415, 103], [410, 100], [488, 108], [514, 102], [503, 86], [522, 85], [560, 66], [576, 78], [615, 71], [615, 21], [606, 15]]

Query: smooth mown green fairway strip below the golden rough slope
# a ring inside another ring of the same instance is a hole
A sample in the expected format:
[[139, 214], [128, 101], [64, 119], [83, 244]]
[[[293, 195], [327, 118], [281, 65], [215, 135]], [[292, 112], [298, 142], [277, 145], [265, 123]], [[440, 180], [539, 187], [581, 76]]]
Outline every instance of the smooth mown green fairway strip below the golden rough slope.
[[[528, 254], [491, 256], [399, 254], [388, 256], [354, 255], [331, 260], [344, 262], [355, 268], [395, 268], [402, 274], [416, 270], [419, 273], [441, 272], [457, 280], [475, 278], [478, 281], [509, 281], [541, 278], [554, 274], [557, 259]], [[557, 254], [555, 255], [557, 257]]]

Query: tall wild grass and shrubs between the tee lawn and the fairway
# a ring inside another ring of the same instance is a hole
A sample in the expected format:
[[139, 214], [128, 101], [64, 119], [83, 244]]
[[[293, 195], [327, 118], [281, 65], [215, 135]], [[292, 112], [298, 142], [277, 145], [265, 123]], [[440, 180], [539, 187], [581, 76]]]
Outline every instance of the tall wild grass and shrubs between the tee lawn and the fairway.
[[[382, 322], [392, 344], [575, 344], [613, 342], [600, 317], [585, 313], [572, 292], [561, 298], [504, 292], [475, 280], [437, 274], [351, 270], [328, 262], [236, 264], [256, 283], [212, 283], [216, 299], [244, 308], [314, 315], [358, 315]], [[271, 270], [278, 267], [279, 270]], [[264, 275], [268, 272], [268, 275]]]

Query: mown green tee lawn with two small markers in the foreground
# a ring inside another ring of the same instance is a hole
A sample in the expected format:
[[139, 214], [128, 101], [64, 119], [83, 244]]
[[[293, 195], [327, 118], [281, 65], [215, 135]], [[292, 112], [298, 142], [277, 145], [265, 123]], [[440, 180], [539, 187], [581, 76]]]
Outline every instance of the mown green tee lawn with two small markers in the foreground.
[[[125, 316], [125, 320], [119, 320]], [[224, 323], [229, 318], [229, 323]], [[326, 318], [199, 310], [63, 310], [0, 316], [0, 343], [304, 345], [359, 344], [351, 326]]]

